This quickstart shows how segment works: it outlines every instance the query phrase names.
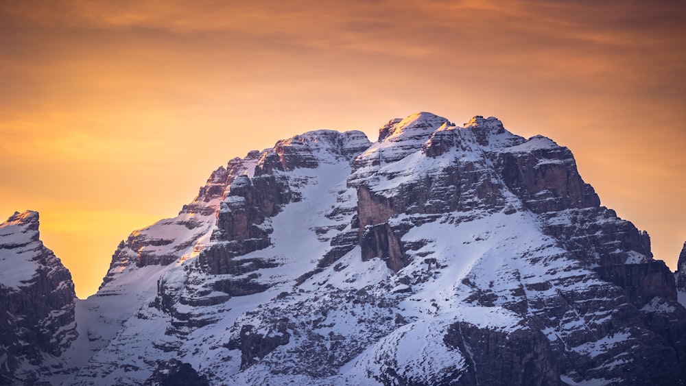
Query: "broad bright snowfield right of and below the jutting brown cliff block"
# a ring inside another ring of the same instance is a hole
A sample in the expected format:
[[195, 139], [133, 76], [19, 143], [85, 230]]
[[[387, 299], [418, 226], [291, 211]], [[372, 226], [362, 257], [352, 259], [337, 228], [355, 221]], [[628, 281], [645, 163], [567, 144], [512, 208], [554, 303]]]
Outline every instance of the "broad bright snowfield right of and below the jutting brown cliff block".
[[[556, 255], [561, 251], [548, 241], [530, 215], [517, 213], [505, 215], [497, 213], [490, 217], [467, 221], [457, 226], [448, 222], [434, 221], [416, 226], [407, 232], [403, 241], [428, 240], [425, 247], [417, 250], [416, 254], [426, 254], [436, 258], [440, 269], [435, 269], [433, 280], [414, 286], [415, 294], [402, 303], [408, 309], [414, 308], [418, 313], [426, 313], [425, 304], [435, 302], [440, 311], [438, 313], [459, 313], [465, 321], [477, 326], [498, 326], [512, 329], [519, 321], [517, 315], [497, 307], [464, 307], [462, 299], [469, 295], [470, 288], [462, 284], [462, 280], [470, 275], [470, 280], [476, 280], [477, 285], [489, 287], [493, 282], [495, 290], [502, 280], [502, 272], [509, 272], [519, 268], [523, 270], [522, 262], [513, 261], [506, 256], [519, 256], [528, 251], [541, 250], [541, 253]], [[494, 232], [494, 228], [498, 232]], [[425, 272], [427, 266], [423, 259], [415, 259], [405, 267], [399, 275], [411, 272]], [[527, 267], [536, 278], [545, 276], [539, 267]], [[473, 276], [473, 278], [471, 277]], [[509, 285], [508, 281], [504, 282]], [[414, 304], [421, 304], [418, 309]], [[476, 311], [475, 311], [476, 310]], [[480, 317], [480, 313], [485, 317]], [[415, 314], [416, 316], [420, 316]]]

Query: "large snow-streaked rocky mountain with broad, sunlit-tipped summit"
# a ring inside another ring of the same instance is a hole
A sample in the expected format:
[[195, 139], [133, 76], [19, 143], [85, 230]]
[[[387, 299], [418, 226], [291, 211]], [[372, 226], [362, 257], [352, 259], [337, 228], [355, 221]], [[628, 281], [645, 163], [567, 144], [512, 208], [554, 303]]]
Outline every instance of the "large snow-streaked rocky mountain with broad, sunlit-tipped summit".
[[318, 130], [230, 160], [178, 217], [119, 244], [99, 291], [76, 304], [67, 370], [34, 374], [680, 385], [680, 272], [600, 205], [566, 147], [493, 117], [458, 126], [421, 112], [375, 143]]

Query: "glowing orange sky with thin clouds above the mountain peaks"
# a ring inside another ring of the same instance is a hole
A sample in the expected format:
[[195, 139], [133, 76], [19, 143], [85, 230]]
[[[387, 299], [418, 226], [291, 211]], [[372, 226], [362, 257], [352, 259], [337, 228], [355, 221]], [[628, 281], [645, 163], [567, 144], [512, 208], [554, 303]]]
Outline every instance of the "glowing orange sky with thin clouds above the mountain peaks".
[[[503, 5], [509, 3], [509, 5]], [[672, 269], [686, 241], [683, 1], [3, 1], [0, 215], [93, 293], [209, 173], [318, 128], [493, 115], [576, 155]]]

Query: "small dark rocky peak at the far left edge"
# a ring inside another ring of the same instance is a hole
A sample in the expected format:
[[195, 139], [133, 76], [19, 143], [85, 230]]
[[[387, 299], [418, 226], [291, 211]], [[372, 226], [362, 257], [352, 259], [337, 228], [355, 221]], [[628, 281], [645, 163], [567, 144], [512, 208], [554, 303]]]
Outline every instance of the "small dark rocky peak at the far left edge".
[[38, 385], [76, 339], [71, 274], [45, 248], [38, 213], [0, 224], [0, 383]]

